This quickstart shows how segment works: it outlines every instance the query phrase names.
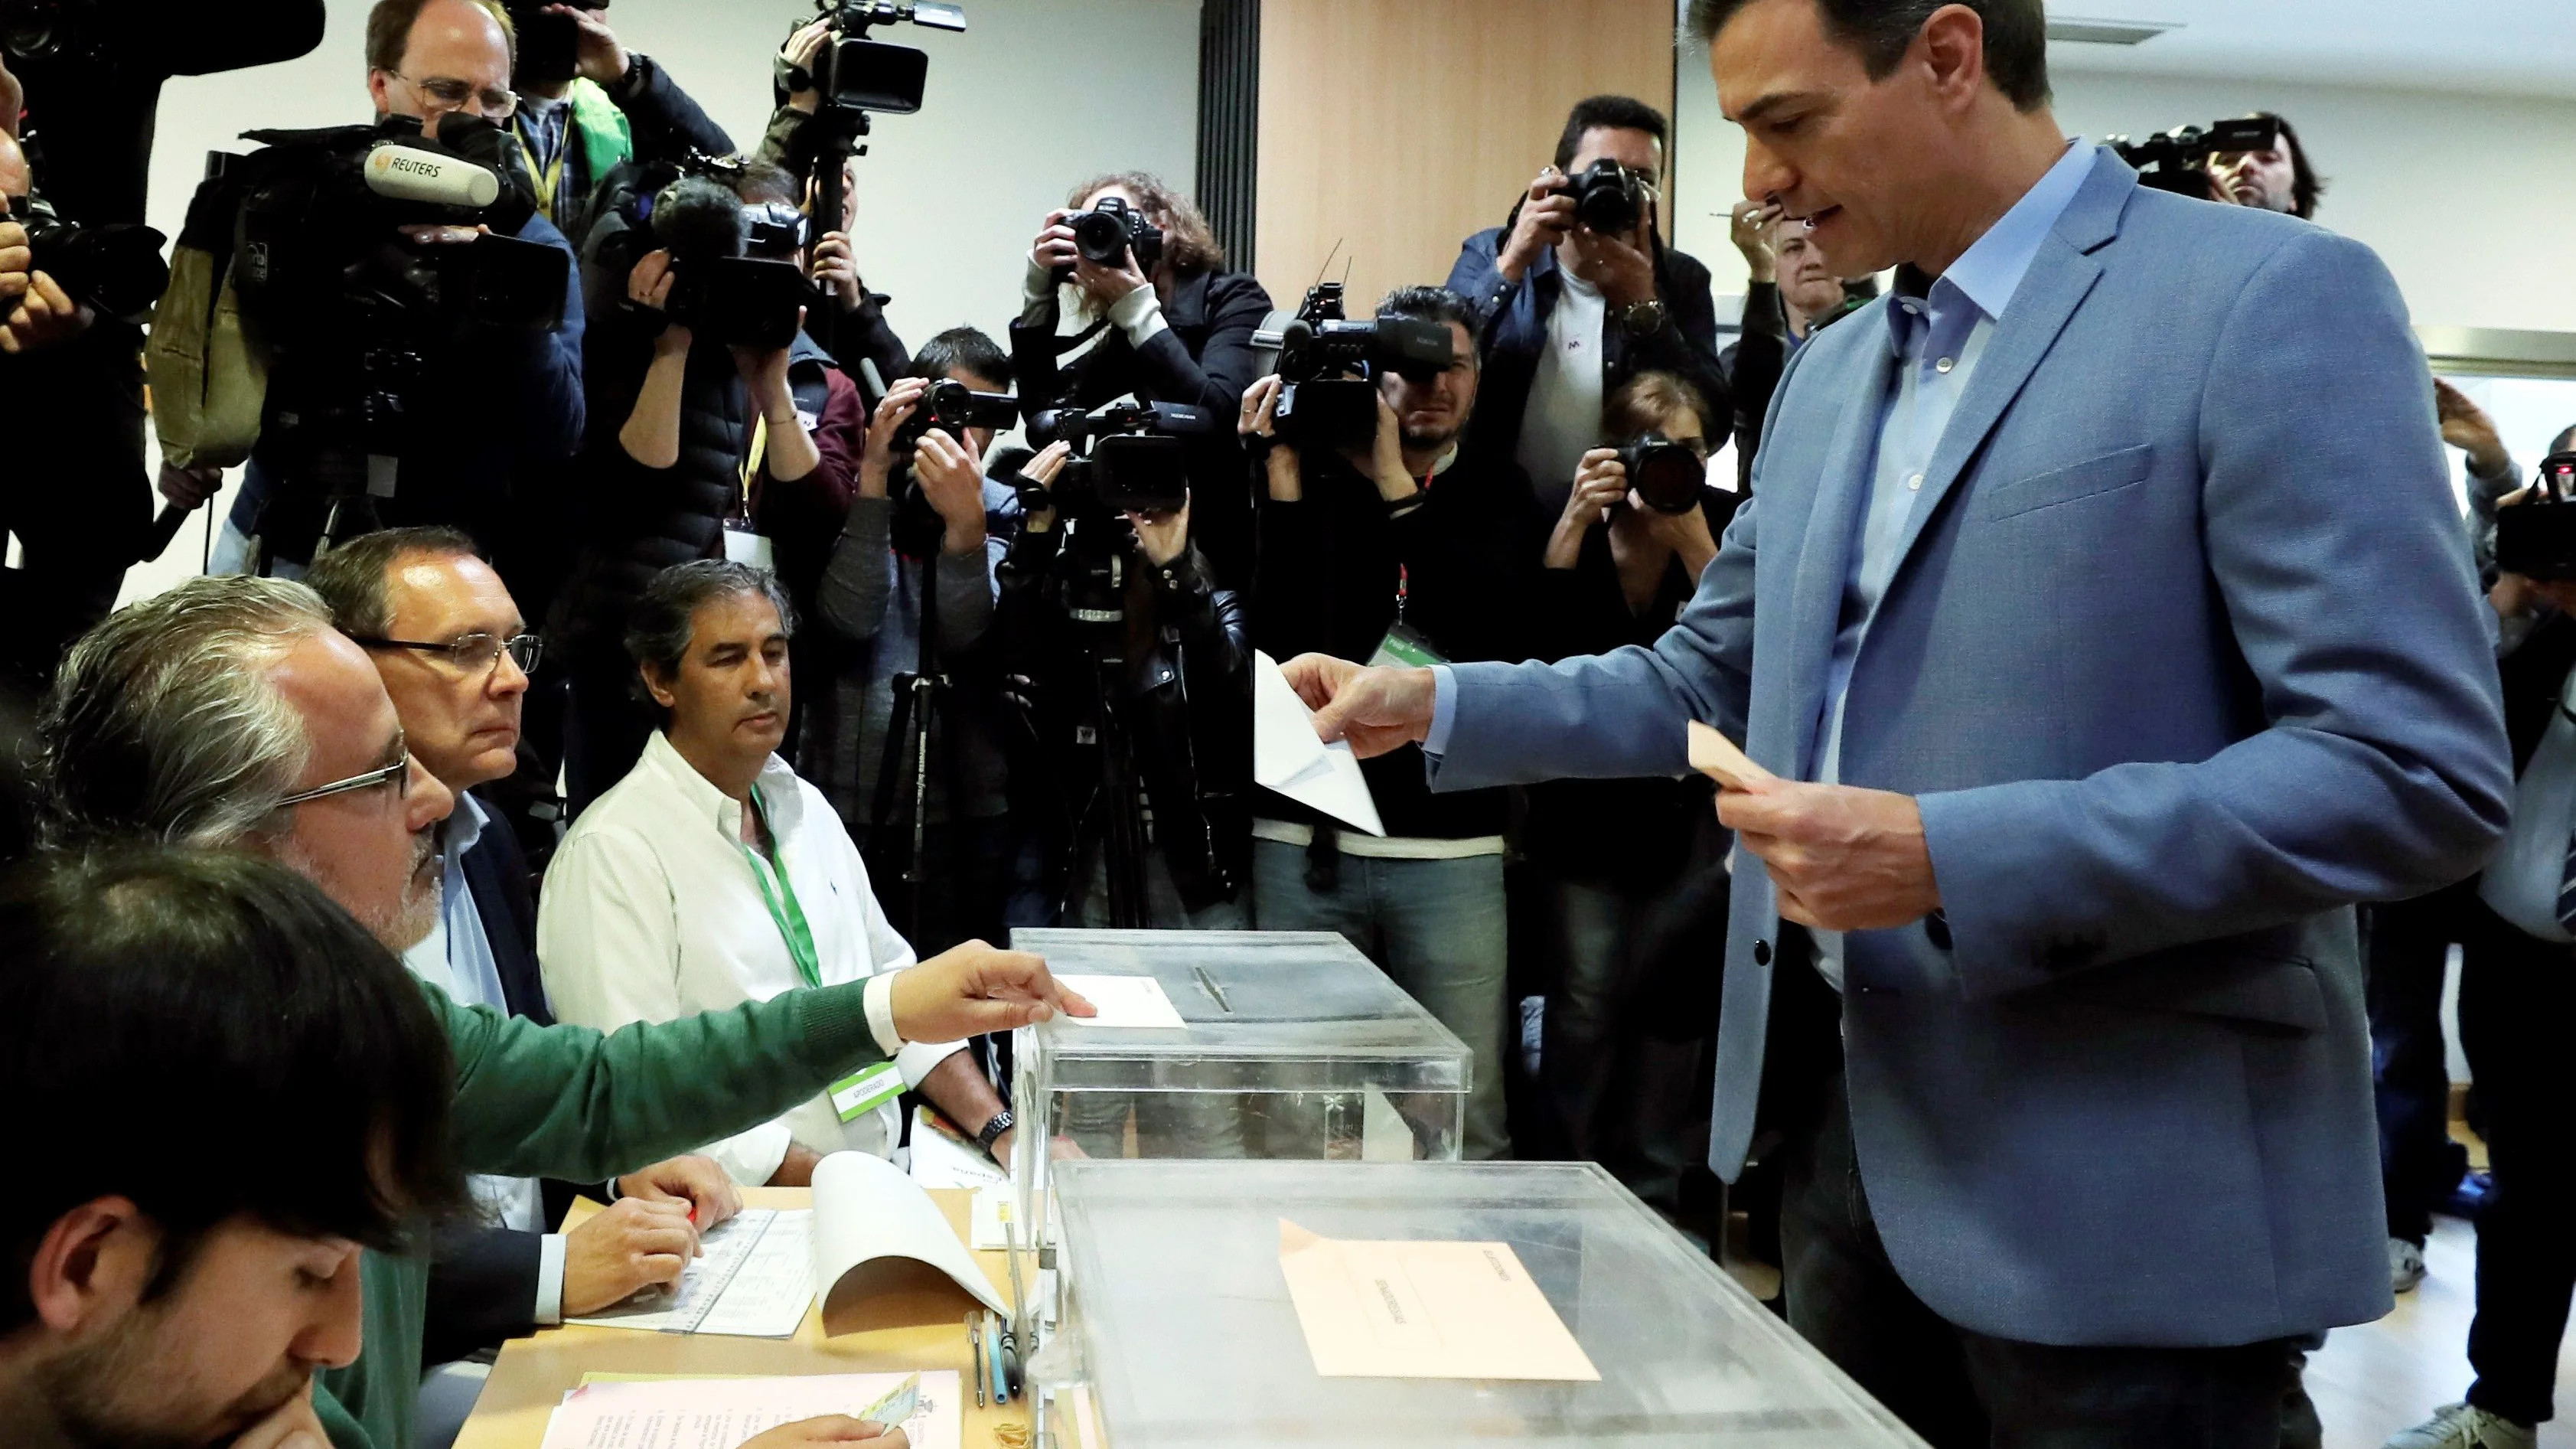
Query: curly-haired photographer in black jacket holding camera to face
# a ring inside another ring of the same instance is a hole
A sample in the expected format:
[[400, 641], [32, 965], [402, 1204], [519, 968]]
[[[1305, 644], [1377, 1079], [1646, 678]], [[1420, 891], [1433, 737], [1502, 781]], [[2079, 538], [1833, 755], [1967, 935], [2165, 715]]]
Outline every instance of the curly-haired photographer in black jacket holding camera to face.
[[[1226, 271], [1198, 206], [1139, 173], [1097, 175], [1048, 211], [1010, 325], [1020, 397], [1074, 407], [1133, 394], [1224, 418], [1260, 371], [1262, 284]], [[1193, 539], [1216, 583], [1252, 575], [1252, 498], [1231, 433], [1188, 438]]]

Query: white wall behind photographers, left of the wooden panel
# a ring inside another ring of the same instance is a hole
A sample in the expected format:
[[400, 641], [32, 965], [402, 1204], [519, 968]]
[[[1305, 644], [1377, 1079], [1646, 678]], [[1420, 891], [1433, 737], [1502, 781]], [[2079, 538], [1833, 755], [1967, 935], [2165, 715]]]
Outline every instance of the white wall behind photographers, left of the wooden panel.
[[[1198, 0], [963, 0], [966, 34], [899, 26], [878, 39], [930, 52], [917, 116], [876, 121], [860, 165], [860, 271], [894, 294], [909, 345], [958, 322], [994, 338], [1018, 315], [1028, 240], [1064, 191], [1103, 170], [1154, 170], [1190, 188], [1198, 155]], [[149, 219], [178, 235], [209, 150], [245, 129], [368, 119], [366, 0], [330, 0], [314, 54], [162, 90]], [[618, 39], [662, 62], [734, 144], [770, 116], [770, 54], [809, 0], [616, 0]], [[214, 508], [229, 508], [219, 498]], [[196, 572], [198, 523], [126, 578], [142, 598]]]

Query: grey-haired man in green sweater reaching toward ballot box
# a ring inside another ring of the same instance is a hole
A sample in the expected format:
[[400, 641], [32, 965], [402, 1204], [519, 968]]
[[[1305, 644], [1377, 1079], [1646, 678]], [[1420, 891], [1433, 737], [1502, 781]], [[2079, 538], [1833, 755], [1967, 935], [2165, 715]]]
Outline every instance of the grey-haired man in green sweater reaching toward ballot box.
[[[435, 920], [435, 825], [453, 797], [410, 761], [376, 665], [299, 583], [198, 578], [116, 611], [64, 655], [36, 730], [54, 843], [260, 853], [394, 951]], [[1092, 1013], [1038, 957], [981, 941], [608, 1036], [422, 990], [453, 1055], [461, 1165], [569, 1181], [768, 1122], [904, 1042]], [[410, 1449], [428, 1258], [368, 1250], [361, 1276], [366, 1346], [317, 1374], [314, 1413], [340, 1449]]]

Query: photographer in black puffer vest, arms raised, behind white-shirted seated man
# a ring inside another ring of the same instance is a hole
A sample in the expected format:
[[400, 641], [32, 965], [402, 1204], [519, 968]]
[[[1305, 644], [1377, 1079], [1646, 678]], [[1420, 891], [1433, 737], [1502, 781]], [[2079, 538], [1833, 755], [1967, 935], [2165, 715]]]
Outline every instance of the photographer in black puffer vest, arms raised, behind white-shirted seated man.
[[[662, 173], [641, 173], [647, 180]], [[801, 333], [796, 178], [778, 168], [693, 162], [592, 224], [582, 284], [590, 441], [577, 467], [577, 559], [549, 642], [567, 657], [564, 784], [580, 815], [626, 776], [652, 717], [634, 691], [626, 616], [665, 567], [690, 559], [768, 567], [752, 523], [757, 482], [796, 485], [822, 451], [793, 369], [827, 361]], [[817, 413], [819, 415], [819, 413]]]

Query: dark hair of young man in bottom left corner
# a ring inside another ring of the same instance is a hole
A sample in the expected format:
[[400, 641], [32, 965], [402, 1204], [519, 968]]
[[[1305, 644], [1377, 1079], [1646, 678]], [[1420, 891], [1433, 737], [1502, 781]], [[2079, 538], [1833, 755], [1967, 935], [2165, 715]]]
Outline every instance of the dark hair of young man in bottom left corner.
[[[399, 1253], [466, 1212], [456, 1062], [420, 982], [304, 877], [237, 851], [39, 853], [0, 874], [0, 1101], [41, 1173], [0, 1194], [0, 1336], [64, 1212], [131, 1199], [147, 1297], [250, 1217]], [[149, 1142], [134, 1124], [162, 1122]]]

